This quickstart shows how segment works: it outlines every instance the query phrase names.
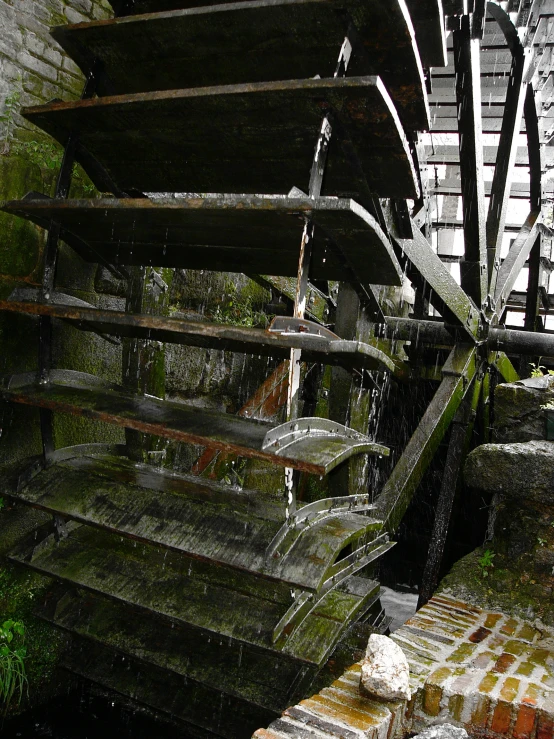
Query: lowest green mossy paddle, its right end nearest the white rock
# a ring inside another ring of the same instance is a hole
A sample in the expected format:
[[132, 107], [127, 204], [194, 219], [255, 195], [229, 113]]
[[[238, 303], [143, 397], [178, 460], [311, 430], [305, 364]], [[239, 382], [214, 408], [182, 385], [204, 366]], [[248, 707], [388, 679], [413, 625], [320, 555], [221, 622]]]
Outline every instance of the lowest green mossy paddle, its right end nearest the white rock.
[[[122, 540], [88, 526], [74, 528], [60, 542], [50, 537], [31, 555], [26, 546], [21, 547], [10, 558], [79, 588], [157, 614], [181, 628], [274, 653], [283, 651], [300, 662], [317, 666], [325, 661], [344, 628], [336, 608], [354, 613], [372, 593], [370, 589], [360, 596], [350, 592], [353, 588], [345, 587], [328, 592], [320, 601], [316, 598], [311, 613], [292, 632], [294, 642], [285, 640], [282, 649], [277, 649], [272, 633], [293, 602], [290, 593], [288, 603], [272, 599], [267, 593], [255, 594], [247, 588], [244, 574], [237, 578], [235, 586], [229, 581], [218, 582], [217, 575], [212, 576], [214, 567], [206, 573], [201, 564], [198, 567], [189, 558], [172, 556], [167, 550]], [[314, 629], [317, 641], [313, 638]]]

